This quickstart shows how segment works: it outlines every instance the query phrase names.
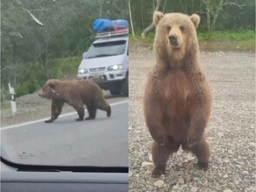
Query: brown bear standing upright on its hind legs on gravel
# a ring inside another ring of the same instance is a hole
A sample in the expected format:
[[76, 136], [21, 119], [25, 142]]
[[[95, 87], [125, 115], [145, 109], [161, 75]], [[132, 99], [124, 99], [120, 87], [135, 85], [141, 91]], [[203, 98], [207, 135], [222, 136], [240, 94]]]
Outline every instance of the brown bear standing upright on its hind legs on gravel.
[[181, 146], [207, 169], [210, 146], [203, 135], [212, 95], [199, 61], [196, 27], [200, 17], [155, 11], [155, 65], [144, 95], [146, 127], [153, 137], [153, 177], [165, 174], [170, 154]]

